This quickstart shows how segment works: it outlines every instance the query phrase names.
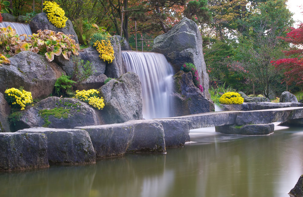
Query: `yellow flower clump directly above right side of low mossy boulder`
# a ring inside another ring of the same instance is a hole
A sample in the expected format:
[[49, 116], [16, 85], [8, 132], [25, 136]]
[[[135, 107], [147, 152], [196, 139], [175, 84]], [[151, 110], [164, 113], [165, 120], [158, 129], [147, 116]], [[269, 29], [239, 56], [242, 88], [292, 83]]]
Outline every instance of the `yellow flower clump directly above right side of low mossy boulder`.
[[99, 98], [99, 91], [96, 89], [76, 90], [76, 95], [73, 98], [82, 100], [94, 108], [103, 109], [104, 107], [103, 97]]

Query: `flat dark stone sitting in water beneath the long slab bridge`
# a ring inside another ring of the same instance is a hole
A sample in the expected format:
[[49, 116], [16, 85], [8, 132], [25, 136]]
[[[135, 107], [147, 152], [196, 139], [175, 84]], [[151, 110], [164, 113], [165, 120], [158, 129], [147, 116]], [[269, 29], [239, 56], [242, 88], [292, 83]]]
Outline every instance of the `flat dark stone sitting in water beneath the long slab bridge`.
[[268, 135], [274, 132], [274, 124], [224, 125], [215, 127], [216, 132], [233, 135]]

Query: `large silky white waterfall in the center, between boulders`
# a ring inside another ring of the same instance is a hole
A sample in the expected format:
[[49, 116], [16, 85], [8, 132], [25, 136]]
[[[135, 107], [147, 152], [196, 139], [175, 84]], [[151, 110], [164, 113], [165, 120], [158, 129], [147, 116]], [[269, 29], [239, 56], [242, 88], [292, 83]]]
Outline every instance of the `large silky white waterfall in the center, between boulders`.
[[122, 51], [124, 73], [139, 75], [142, 87], [143, 118], [166, 118], [170, 112], [173, 70], [159, 53]]

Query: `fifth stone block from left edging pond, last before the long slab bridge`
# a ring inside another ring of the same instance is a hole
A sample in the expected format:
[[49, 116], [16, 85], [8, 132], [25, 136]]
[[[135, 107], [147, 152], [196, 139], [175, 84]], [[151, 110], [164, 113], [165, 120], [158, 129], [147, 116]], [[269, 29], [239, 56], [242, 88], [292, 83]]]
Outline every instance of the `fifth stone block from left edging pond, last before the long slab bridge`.
[[182, 119], [155, 119], [159, 121], [164, 130], [166, 147], [184, 146], [185, 142], [190, 141], [189, 128], [191, 122]]

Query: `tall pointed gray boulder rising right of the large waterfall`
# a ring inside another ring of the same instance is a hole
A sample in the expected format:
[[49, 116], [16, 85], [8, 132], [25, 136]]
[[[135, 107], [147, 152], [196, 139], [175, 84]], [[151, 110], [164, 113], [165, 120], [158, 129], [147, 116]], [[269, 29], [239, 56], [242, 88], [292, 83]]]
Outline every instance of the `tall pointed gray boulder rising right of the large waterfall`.
[[156, 37], [151, 51], [164, 54], [172, 64], [174, 73], [177, 73], [185, 62], [193, 63], [199, 72], [203, 95], [210, 99], [202, 43], [197, 24], [185, 17], [169, 32]]

